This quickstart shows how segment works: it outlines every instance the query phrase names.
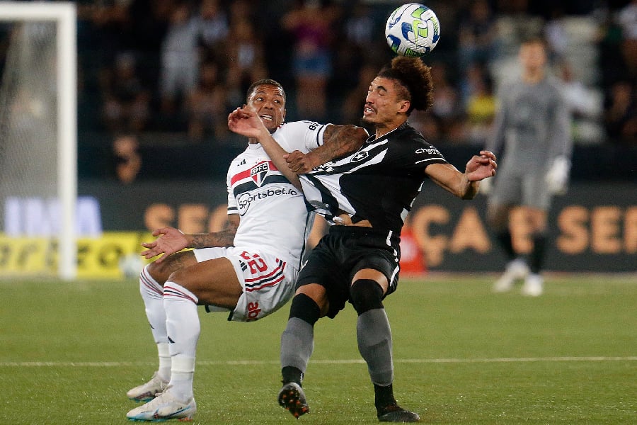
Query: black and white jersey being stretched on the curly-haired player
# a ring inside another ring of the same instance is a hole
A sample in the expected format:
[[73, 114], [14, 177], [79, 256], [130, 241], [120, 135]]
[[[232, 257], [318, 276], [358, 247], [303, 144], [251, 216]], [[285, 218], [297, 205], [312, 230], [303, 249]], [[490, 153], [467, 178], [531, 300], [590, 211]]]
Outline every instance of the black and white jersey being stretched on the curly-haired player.
[[341, 210], [352, 222], [369, 220], [372, 227], [400, 234], [425, 168], [447, 161], [408, 122], [373, 137], [348, 157], [300, 176], [306, 202], [331, 224]]

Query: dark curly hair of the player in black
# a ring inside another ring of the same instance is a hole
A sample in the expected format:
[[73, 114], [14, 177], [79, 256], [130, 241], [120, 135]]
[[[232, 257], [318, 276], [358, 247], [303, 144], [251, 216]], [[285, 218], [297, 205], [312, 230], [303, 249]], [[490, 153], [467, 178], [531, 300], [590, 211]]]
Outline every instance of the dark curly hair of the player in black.
[[378, 77], [393, 79], [403, 87], [404, 91], [398, 95], [411, 102], [407, 115], [414, 109], [427, 111], [432, 106], [431, 67], [419, 57], [396, 56], [380, 70]]

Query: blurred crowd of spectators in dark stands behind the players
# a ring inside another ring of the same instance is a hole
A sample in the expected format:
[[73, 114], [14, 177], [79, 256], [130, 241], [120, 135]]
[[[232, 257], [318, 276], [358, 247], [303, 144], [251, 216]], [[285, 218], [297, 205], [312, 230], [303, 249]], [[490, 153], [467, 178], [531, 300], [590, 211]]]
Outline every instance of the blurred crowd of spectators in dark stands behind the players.
[[[114, 150], [126, 146], [116, 166], [135, 169], [139, 137], [229, 146], [229, 111], [264, 77], [285, 86], [287, 120], [357, 123], [369, 81], [393, 55], [384, 24], [401, 3], [77, 1], [80, 135], [101, 132]], [[544, 35], [575, 143], [637, 145], [637, 0], [424, 3], [441, 22], [425, 57], [435, 103], [411, 121], [433, 144], [483, 146], [517, 45]]]

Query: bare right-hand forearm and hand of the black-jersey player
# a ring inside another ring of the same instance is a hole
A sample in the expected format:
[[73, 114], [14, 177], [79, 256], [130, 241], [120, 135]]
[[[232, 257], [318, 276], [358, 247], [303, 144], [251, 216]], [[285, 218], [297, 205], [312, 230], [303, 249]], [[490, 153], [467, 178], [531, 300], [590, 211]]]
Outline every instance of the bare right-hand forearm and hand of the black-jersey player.
[[490, 151], [480, 151], [466, 163], [464, 173], [452, 164], [431, 164], [425, 173], [439, 186], [461, 199], [473, 199], [478, 193], [479, 181], [495, 176], [495, 155]]

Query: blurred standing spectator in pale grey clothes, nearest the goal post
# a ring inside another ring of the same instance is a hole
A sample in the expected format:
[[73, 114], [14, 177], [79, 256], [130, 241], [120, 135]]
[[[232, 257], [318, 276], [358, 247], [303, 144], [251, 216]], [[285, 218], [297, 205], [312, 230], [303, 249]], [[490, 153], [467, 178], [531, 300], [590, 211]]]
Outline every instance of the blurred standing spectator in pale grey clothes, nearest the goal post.
[[199, 27], [190, 11], [190, 4], [175, 4], [168, 32], [161, 43], [161, 79], [159, 94], [164, 118], [179, 118], [185, 96], [197, 85]]

